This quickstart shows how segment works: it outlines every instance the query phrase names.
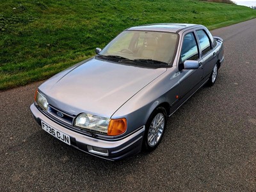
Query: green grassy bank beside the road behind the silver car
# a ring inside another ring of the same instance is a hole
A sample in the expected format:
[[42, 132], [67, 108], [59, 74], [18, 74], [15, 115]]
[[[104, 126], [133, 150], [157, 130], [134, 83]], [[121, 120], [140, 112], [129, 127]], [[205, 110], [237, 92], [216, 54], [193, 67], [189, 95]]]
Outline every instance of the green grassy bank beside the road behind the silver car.
[[214, 29], [255, 17], [244, 6], [197, 0], [2, 0], [0, 89], [51, 77], [127, 27], [184, 22]]

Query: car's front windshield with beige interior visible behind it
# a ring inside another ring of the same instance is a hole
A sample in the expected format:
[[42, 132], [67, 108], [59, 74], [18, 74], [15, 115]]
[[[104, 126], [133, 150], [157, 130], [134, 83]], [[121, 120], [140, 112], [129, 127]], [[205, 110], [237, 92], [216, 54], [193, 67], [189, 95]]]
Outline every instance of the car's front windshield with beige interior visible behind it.
[[124, 31], [99, 55], [132, 61], [159, 61], [170, 64], [175, 56], [178, 35], [157, 31]]

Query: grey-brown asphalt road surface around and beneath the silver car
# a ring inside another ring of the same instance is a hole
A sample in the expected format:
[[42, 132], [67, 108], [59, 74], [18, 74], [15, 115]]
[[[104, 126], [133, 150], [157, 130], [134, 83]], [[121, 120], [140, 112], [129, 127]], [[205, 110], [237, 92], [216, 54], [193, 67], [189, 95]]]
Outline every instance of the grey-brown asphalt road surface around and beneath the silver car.
[[256, 19], [212, 33], [225, 40], [216, 84], [168, 119], [156, 151], [124, 161], [40, 128], [29, 105], [42, 82], [0, 92], [0, 191], [256, 191]]

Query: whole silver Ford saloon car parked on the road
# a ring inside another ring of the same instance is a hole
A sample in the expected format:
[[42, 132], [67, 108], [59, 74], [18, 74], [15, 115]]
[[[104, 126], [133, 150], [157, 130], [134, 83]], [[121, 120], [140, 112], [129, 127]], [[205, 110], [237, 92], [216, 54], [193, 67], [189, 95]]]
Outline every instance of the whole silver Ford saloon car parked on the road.
[[195, 24], [151, 24], [120, 33], [95, 57], [44, 82], [31, 112], [55, 138], [117, 160], [153, 151], [172, 115], [223, 63], [223, 40]]

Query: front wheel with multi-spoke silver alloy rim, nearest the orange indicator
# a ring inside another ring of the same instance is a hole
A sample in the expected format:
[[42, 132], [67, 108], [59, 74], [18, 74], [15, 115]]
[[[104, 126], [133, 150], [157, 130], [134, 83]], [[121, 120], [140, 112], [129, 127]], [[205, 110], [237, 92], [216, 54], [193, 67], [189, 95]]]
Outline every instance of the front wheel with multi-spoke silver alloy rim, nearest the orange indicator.
[[[157, 122], [161, 122], [157, 125]], [[166, 129], [167, 115], [163, 107], [157, 107], [148, 118], [144, 135], [145, 151], [153, 151], [160, 144]]]

